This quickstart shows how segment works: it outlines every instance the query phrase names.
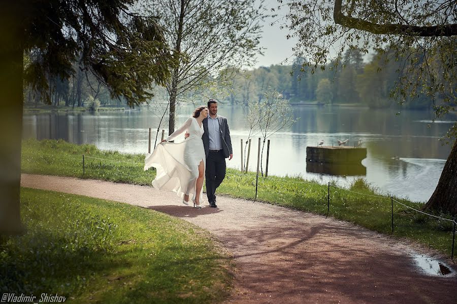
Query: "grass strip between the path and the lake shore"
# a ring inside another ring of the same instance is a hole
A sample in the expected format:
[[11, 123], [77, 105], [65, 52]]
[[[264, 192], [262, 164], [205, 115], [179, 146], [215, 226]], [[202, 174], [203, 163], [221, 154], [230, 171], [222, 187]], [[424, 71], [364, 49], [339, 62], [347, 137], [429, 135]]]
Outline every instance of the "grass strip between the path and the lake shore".
[[[86, 171], [82, 172], [82, 155], [125, 163], [86, 158]], [[76, 145], [62, 140], [26, 140], [22, 144], [22, 172], [104, 179], [115, 182], [149, 185], [155, 171], [143, 171], [144, 155], [120, 154], [101, 151], [94, 145]], [[135, 163], [135, 164], [131, 164]], [[330, 188], [329, 215], [350, 221], [368, 229], [390, 234], [390, 199], [376, 198], [348, 192], [334, 186]], [[364, 180], [355, 181], [350, 187], [368, 195], [380, 195]], [[298, 210], [327, 214], [327, 185], [307, 182], [300, 178], [259, 177], [258, 200]], [[226, 178], [218, 188], [219, 194], [253, 199], [255, 174], [242, 174], [228, 169]], [[421, 208], [421, 204], [395, 198], [397, 201]], [[450, 215], [437, 214], [451, 218]], [[450, 256], [452, 246], [452, 222], [438, 220], [417, 213], [399, 204], [394, 206], [394, 236], [425, 244]], [[455, 252], [454, 252], [455, 253]]]

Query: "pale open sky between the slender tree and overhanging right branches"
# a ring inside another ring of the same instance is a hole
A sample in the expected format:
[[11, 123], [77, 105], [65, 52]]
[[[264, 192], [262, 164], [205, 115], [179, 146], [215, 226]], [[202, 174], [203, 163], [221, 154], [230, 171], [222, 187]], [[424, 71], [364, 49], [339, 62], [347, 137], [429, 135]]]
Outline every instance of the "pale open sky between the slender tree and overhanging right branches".
[[[276, 0], [265, 0], [265, 5], [268, 8], [268, 13], [271, 14], [270, 9], [277, 7], [278, 2]], [[291, 38], [286, 39], [286, 35], [289, 33], [287, 29], [280, 29], [280, 23], [284, 23], [283, 17], [286, 14], [286, 9], [282, 9], [276, 18], [267, 18], [264, 23], [264, 32], [262, 39], [260, 39], [260, 46], [266, 48], [264, 56], [257, 56], [257, 63], [254, 67], [259, 66], [270, 66], [272, 64], [279, 64], [280, 62], [288, 59], [288, 64], [291, 64], [293, 60], [292, 48], [297, 44], [297, 39]], [[273, 21], [278, 21], [273, 26], [270, 25]]]

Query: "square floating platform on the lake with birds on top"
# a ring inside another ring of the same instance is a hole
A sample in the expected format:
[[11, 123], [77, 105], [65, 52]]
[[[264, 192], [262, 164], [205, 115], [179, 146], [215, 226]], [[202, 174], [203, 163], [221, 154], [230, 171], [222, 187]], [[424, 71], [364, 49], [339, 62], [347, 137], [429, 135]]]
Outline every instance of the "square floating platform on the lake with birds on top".
[[367, 148], [351, 146], [306, 147], [306, 161], [319, 163], [360, 164], [367, 157]]

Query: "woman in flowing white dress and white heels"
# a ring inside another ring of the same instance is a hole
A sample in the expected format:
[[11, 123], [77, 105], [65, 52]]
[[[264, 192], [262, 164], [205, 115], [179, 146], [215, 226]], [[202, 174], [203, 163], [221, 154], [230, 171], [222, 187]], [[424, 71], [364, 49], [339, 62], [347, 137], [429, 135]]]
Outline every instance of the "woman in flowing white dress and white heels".
[[[181, 128], [162, 140], [152, 154], [146, 155], [144, 162], [144, 170], [150, 167], [157, 169], [157, 175], [152, 181], [154, 188], [174, 191], [182, 198], [184, 205], [188, 205], [190, 199], [197, 208], [203, 207], [200, 202], [203, 197], [206, 157], [202, 135], [203, 120], [207, 117], [206, 106], [196, 108]], [[186, 130], [189, 137], [183, 142], [169, 142]]]

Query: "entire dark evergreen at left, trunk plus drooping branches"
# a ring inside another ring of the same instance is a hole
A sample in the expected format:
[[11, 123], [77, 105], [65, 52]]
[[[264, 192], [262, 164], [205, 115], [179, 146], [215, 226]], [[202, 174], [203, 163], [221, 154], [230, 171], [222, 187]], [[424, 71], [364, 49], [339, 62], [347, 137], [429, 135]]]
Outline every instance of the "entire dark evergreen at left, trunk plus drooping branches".
[[[133, 106], [147, 100], [152, 83], [164, 85], [173, 58], [154, 18], [129, 10], [134, 0], [2, 1], [0, 10], [0, 234], [22, 230], [20, 176], [23, 82], [49, 101], [46, 75], [68, 79], [78, 55], [112, 96]], [[41, 60], [24, 71], [24, 52]], [[8, 130], [8, 131], [7, 131]]]

